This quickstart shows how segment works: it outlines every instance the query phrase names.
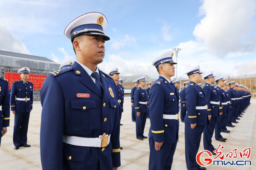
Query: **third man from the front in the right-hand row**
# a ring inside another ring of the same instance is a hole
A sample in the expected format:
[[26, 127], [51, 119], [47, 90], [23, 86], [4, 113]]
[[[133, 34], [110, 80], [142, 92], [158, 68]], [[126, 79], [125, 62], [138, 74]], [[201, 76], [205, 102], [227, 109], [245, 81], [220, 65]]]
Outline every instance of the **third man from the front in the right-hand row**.
[[212, 152], [213, 155], [216, 155], [216, 153], [214, 152], [214, 150], [216, 149], [212, 145], [212, 136], [214, 133], [216, 122], [217, 122], [217, 117], [219, 117], [220, 99], [216, 89], [213, 86], [215, 82], [214, 77], [215, 76], [213, 75], [213, 71], [207, 73], [203, 77], [206, 82], [204, 84], [203, 90], [206, 96], [206, 101], [208, 106], [207, 114], [208, 116], [211, 115], [211, 119], [209, 120], [209, 125], [206, 125], [206, 127], [204, 127], [204, 150], [208, 150]]

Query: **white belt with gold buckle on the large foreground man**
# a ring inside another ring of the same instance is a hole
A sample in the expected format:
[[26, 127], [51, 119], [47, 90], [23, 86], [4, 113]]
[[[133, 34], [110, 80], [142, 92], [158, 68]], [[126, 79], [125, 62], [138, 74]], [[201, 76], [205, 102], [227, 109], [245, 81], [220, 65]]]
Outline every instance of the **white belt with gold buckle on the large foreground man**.
[[102, 148], [102, 147], [106, 147], [109, 144], [110, 135], [105, 135], [104, 137], [100, 135], [99, 138], [84, 138], [79, 136], [63, 135], [63, 142], [67, 144], [76, 145], [76, 146]]

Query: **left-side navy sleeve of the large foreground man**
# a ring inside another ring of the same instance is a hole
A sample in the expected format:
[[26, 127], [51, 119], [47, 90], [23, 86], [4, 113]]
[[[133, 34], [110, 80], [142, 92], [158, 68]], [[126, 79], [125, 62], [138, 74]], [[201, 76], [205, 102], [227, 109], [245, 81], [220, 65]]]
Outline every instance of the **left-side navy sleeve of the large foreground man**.
[[57, 80], [48, 76], [41, 88], [40, 151], [42, 168], [63, 170], [64, 101]]

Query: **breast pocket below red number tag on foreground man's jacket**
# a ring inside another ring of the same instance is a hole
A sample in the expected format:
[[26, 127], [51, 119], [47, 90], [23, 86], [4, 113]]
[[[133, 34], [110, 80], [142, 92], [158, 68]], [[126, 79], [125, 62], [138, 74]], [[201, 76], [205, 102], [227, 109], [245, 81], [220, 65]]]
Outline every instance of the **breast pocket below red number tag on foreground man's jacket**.
[[94, 130], [98, 127], [95, 99], [71, 99], [73, 130]]

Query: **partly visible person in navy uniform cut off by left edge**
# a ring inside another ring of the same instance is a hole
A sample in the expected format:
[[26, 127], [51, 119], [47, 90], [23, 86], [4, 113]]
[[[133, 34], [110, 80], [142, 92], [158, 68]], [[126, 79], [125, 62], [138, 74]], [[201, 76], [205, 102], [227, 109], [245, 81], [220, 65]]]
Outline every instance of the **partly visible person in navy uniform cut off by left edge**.
[[10, 124], [10, 95], [8, 80], [0, 78], [0, 146], [1, 138], [7, 132], [7, 127]]

